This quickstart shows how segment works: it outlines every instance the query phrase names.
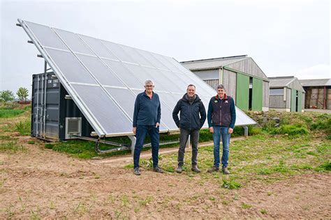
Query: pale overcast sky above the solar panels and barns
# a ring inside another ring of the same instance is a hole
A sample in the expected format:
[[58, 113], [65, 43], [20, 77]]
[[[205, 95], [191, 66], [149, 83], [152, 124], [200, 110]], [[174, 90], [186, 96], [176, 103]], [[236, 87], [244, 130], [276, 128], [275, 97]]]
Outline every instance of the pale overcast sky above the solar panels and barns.
[[17, 18], [177, 61], [247, 54], [267, 77], [331, 78], [329, 1], [0, 1], [0, 91], [31, 91], [43, 72]]

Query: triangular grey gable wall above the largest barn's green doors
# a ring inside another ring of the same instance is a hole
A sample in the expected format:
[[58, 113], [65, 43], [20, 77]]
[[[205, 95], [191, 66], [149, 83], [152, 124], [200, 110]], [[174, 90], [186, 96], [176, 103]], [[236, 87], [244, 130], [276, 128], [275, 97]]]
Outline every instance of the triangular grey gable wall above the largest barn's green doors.
[[232, 63], [226, 66], [241, 72], [246, 72], [256, 77], [267, 79], [263, 71], [258, 67], [252, 58], [247, 58], [243, 61], [237, 61], [236, 63]]

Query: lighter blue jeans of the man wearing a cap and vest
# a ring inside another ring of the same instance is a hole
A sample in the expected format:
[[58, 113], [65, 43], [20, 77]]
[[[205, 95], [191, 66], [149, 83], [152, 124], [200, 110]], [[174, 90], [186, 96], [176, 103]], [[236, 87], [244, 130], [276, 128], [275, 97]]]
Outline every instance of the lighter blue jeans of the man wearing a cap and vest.
[[212, 139], [214, 141], [214, 166], [219, 167], [219, 144], [222, 137], [223, 143], [223, 154], [222, 154], [222, 167], [228, 167], [229, 158], [229, 143], [231, 134], [228, 133], [229, 127], [221, 127], [218, 125], [213, 125], [214, 134], [212, 134]]

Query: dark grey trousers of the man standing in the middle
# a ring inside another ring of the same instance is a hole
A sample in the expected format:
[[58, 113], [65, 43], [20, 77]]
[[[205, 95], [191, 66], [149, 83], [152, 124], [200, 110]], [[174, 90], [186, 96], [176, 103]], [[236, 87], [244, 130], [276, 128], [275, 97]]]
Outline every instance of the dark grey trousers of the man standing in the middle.
[[179, 136], [178, 166], [183, 166], [184, 164], [185, 146], [189, 139], [189, 135], [191, 135], [192, 142], [192, 166], [196, 166], [198, 163], [199, 130], [186, 130], [181, 128]]

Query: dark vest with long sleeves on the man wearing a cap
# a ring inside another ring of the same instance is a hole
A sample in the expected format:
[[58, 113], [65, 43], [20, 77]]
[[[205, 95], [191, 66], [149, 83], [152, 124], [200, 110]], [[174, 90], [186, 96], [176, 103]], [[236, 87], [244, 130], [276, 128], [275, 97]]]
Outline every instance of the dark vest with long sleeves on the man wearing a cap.
[[235, 101], [232, 97], [224, 95], [219, 99], [218, 95], [213, 96], [208, 105], [208, 126], [221, 125], [224, 127], [235, 127]]

